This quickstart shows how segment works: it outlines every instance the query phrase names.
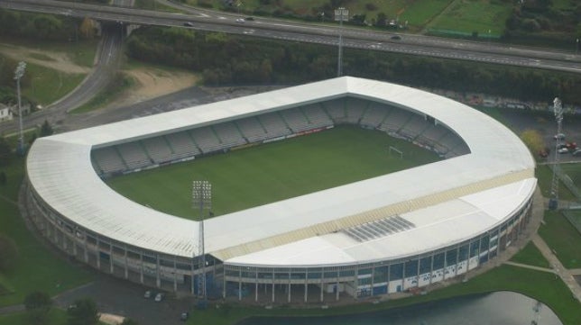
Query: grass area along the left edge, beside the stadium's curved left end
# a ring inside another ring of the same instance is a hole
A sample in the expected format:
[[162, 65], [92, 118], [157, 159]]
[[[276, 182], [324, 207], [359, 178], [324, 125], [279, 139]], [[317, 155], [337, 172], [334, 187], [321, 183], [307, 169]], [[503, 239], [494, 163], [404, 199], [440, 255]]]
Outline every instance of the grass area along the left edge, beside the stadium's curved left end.
[[0, 232], [14, 239], [18, 247], [16, 266], [0, 274], [0, 284], [13, 291], [0, 295], [0, 306], [22, 303], [35, 290], [54, 295], [91, 280], [90, 272], [53, 255], [26, 229], [16, 205], [23, 165], [22, 158], [14, 158], [10, 166], [0, 167], [7, 176], [7, 184], [0, 186]]

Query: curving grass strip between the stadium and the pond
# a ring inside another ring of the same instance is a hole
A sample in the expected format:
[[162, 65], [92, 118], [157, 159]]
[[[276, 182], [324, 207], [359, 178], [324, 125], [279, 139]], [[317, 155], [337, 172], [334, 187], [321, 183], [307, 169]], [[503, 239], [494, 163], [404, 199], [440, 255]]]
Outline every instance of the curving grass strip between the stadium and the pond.
[[[523, 281], [526, 279], [526, 281]], [[224, 309], [208, 308], [205, 311], [192, 312], [189, 324], [231, 325], [250, 316], [316, 316], [350, 314], [366, 311], [378, 311], [387, 308], [407, 306], [414, 303], [430, 302], [466, 294], [490, 293], [495, 291], [512, 291], [523, 293], [548, 305], [564, 325], [581, 324], [581, 304], [577, 302], [567, 285], [555, 275], [530, 270], [517, 266], [499, 266], [478, 275], [466, 283], [459, 283], [432, 291], [427, 295], [413, 296], [378, 304], [362, 303], [349, 306], [321, 309], [281, 308], [265, 310], [235, 304], [225, 312]]]

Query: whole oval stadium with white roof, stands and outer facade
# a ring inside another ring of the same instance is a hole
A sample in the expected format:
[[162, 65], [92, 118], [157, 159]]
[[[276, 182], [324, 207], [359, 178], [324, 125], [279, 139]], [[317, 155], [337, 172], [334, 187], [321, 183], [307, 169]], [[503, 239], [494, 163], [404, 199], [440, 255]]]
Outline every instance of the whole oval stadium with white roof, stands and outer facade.
[[[343, 124], [443, 159], [203, 222], [104, 183]], [[104, 273], [210, 298], [325, 303], [417, 291], [489, 263], [530, 219], [534, 168], [521, 140], [484, 113], [338, 77], [38, 139], [25, 190], [43, 236]]]

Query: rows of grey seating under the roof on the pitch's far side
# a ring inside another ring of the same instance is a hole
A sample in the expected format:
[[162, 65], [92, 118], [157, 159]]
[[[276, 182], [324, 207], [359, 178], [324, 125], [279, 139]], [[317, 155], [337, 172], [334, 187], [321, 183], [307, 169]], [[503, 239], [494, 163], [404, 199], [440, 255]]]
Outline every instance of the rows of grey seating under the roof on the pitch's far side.
[[96, 149], [93, 165], [107, 176], [345, 123], [413, 140], [445, 158], [470, 152], [455, 133], [424, 115], [347, 97]]

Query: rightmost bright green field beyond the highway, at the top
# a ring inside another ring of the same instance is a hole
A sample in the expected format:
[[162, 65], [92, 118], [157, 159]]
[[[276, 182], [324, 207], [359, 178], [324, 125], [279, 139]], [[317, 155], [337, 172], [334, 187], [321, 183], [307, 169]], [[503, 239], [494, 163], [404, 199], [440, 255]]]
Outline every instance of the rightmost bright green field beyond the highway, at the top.
[[502, 35], [504, 22], [511, 12], [512, 5], [498, 5], [493, 1], [457, 1], [430, 27], [457, 32], [478, 32], [483, 37], [488, 31], [491, 35]]

